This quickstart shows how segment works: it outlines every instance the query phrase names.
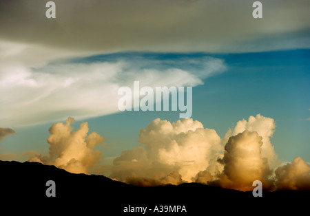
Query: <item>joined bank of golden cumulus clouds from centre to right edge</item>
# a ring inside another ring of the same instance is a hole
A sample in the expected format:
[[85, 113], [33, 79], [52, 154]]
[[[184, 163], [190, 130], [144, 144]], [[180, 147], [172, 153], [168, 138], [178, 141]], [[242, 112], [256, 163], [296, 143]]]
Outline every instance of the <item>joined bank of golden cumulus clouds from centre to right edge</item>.
[[141, 129], [138, 147], [114, 159], [110, 177], [139, 186], [199, 182], [251, 191], [260, 180], [268, 191], [309, 189], [310, 166], [300, 157], [274, 172], [280, 162], [270, 140], [274, 129], [272, 118], [258, 114], [220, 139], [197, 120], [156, 118]]

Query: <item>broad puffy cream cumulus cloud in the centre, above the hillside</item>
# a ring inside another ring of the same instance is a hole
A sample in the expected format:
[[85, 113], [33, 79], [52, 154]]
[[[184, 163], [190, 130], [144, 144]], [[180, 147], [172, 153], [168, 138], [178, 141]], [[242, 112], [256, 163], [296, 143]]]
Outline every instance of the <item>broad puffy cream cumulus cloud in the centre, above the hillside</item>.
[[146, 185], [192, 182], [222, 149], [216, 131], [190, 118], [172, 123], [156, 118], [141, 129], [138, 142], [139, 147], [123, 151], [114, 160], [110, 177]]

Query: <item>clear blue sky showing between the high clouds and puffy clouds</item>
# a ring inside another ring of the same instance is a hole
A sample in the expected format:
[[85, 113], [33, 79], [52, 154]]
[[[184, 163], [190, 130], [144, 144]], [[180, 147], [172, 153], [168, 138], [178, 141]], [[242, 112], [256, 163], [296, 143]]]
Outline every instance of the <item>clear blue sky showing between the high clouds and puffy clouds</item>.
[[[181, 67], [195, 73], [203, 66], [183, 60], [201, 60], [204, 57], [220, 59], [225, 69], [211, 73], [206, 78], [200, 76], [203, 85], [193, 88], [194, 120], [202, 122], [205, 128], [215, 129], [223, 138], [229, 127], [232, 128], [242, 118], [247, 119], [256, 114], [273, 118], [276, 132], [271, 143], [275, 146], [278, 158], [291, 161], [301, 156], [305, 161], [310, 161], [310, 120], [307, 120], [310, 118], [310, 50], [242, 54], [127, 52], [73, 58], [69, 62], [90, 64], [140, 59], [148, 63], [147, 67]], [[140, 63], [136, 67], [143, 65]], [[173, 122], [178, 120], [178, 113], [125, 111], [84, 118], [73, 125], [76, 129], [81, 122], [87, 121], [90, 131], [96, 131], [105, 138], [105, 145], [96, 147], [102, 151], [103, 157], [116, 157], [121, 151], [138, 146], [136, 140], [139, 130], [154, 118]], [[48, 153], [46, 139], [51, 125], [52, 122], [45, 122], [14, 128], [16, 133], [1, 141], [0, 153], [32, 150]]]

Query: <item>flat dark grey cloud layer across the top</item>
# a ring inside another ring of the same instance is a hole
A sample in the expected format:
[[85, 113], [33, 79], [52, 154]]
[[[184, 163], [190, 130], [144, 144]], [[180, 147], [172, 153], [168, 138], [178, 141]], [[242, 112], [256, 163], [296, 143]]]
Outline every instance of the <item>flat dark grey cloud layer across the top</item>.
[[47, 19], [45, 1], [1, 1], [0, 38], [93, 53], [309, 47], [307, 0], [263, 0], [260, 20], [251, 16], [253, 2], [242, 0], [54, 2], [56, 19]]

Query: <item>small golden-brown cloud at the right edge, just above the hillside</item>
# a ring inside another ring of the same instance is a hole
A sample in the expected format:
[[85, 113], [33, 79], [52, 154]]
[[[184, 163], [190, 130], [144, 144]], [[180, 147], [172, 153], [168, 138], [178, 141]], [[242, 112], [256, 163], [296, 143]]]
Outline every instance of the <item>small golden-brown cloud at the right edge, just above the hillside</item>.
[[276, 169], [278, 190], [310, 190], [310, 165], [296, 157]]

